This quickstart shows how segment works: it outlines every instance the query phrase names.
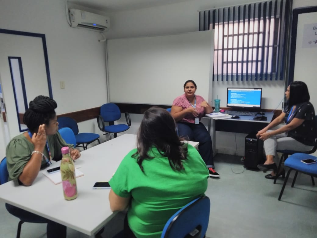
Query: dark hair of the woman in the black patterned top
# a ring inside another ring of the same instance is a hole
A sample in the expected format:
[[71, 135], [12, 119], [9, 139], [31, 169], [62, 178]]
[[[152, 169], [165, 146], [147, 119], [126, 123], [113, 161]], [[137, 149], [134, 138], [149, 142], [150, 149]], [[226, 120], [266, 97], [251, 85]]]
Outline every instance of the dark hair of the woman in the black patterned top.
[[306, 83], [302, 81], [294, 81], [289, 84], [288, 109], [298, 103], [308, 102], [309, 99], [310, 96]]

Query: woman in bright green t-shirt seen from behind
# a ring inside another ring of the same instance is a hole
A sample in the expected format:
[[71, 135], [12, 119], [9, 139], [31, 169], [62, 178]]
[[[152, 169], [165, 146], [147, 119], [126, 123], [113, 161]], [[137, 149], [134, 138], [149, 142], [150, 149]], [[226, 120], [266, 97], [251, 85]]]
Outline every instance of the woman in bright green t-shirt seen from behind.
[[137, 142], [109, 181], [110, 207], [128, 207], [124, 237], [159, 238], [176, 211], [204, 195], [209, 172], [198, 151], [177, 136], [165, 109], [144, 113]]

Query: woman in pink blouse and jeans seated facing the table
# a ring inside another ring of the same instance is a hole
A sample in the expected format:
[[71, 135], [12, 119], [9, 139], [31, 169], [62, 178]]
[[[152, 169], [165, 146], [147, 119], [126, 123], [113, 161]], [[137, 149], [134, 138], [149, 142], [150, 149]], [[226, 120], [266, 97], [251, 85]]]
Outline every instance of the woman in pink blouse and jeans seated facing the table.
[[210, 177], [219, 177], [214, 169], [211, 137], [200, 119], [212, 113], [212, 107], [202, 96], [195, 95], [197, 85], [193, 80], [184, 83], [184, 94], [178, 96], [172, 105], [171, 115], [178, 124], [179, 136], [199, 142], [199, 154], [209, 170]]

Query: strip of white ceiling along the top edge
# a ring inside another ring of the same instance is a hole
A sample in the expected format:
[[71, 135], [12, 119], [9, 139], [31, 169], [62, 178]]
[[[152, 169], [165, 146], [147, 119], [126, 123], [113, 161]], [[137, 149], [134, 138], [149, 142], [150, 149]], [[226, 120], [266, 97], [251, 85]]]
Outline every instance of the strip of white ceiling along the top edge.
[[115, 12], [157, 7], [188, 1], [192, 0], [70, 0], [68, 2], [100, 11]]

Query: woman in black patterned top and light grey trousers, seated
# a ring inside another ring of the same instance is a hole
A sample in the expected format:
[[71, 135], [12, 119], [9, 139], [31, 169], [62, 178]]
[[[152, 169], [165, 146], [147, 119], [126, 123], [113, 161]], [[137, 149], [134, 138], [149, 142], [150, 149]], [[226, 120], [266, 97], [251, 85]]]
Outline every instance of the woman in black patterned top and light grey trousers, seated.
[[[264, 141], [266, 155], [266, 161], [259, 164], [258, 168], [263, 172], [273, 169], [271, 174], [265, 176], [268, 179], [285, 174], [283, 169], [276, 175], [276, 150], [309, 151], [314, 147], [317, 135], [315, 110], [309, 102], [307, 85], [301, 81], [294, 81], [288, 86], [285, 96], [288, 105], [281, 115], [256, 134], [257, 138]], [[285, 124], [279, 125], [283, 121]]]

